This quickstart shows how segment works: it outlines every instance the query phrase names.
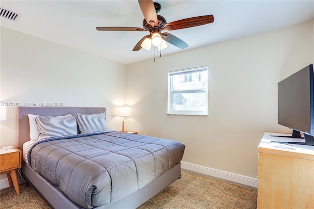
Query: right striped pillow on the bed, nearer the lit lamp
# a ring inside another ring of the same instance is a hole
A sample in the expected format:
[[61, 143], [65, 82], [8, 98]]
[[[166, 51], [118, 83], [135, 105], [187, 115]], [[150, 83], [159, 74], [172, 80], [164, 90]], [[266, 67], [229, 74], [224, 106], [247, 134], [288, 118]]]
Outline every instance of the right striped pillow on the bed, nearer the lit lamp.
[[82, 115], [76, 113], [80, 133], [97, 133], [108, 131], [106, 114]]

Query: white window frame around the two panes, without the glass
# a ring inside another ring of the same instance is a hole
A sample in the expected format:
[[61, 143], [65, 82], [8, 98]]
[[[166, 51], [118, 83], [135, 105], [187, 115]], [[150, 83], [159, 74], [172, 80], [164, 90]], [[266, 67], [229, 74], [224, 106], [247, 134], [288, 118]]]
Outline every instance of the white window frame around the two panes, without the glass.
[[[172, 89], [173, 83], [173, 76], [179, 74], [187, 74], [191, 72], [200, 72], [200, 71], [207, 71], [207, 66], [196, 67], [196, 68], [189, 68], [183, 70], [176, 70], [176, 71], [169, 71], [168, 72], [168, 110], [167, 114], [169, 115], [201, 115], [207, 116], [208, 115], [208, 78], [207, 78], [207, 88], [204, 89], [196, 89], [196, 90], [184, 90], [184, 91], [174, 91]], [[205, 101], [205, 110], [204, 111], [179, 111], [173, 110], [173, 94], [175, 93], [199, 93], [205, 92], [206, 93], [206, 101]]]

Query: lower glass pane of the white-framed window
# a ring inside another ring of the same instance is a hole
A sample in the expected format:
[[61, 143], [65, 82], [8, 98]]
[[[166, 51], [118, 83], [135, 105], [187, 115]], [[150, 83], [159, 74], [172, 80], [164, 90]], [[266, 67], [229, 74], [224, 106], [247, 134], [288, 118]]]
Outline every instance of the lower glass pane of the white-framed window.
[[206, 111], [206, 92], [174, 93], [173, 110]]

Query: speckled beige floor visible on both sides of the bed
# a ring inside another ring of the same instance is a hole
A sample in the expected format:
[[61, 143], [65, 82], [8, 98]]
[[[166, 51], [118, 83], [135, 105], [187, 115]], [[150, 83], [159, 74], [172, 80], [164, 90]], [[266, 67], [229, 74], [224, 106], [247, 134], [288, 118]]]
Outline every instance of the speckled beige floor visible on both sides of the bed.
[[[31, 187], [0, 190], [0, 209], [49, 209]], [[138, 209], [256, 209], [257, 191], [182, 171], [181, 179]]]

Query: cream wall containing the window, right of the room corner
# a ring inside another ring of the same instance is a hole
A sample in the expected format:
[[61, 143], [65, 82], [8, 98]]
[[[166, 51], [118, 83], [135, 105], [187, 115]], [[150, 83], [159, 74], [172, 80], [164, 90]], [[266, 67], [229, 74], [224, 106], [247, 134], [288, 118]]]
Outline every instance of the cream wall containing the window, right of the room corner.
[[[126, 129], [184, 143], [185, 162], [256, 178], [263, 132], [291, 132], [277, 124], [277, 83], [313, 63], [313, 34], [310, 21], [129, 64]], [[167, 73], [204, 65], [209, 115], [166, 115]]]

